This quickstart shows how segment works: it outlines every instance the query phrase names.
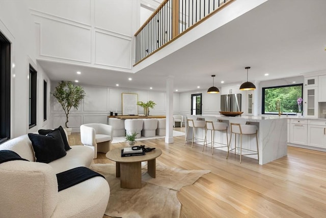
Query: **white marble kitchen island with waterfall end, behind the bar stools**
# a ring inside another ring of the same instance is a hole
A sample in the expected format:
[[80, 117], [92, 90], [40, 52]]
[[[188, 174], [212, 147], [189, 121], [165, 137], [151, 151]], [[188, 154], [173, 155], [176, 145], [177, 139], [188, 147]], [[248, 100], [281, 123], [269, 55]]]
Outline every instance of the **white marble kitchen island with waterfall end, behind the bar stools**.
[[[239, 117], [226, 117], [223, 115], [210, 115], [210, 116], [196, 116], [188, 115], [187, 119], [204, 118], [206, 121], [218, 120], [218, 122], [227, 123], [230, 122], [256, 125], [258, 127], [258, 149], [259, 149], [259, 164], [264, 165], [270, 161], [276, 160], [287, 155], [287, 118], [278, 116], [239, 116]], [[187, 122], [186, 122], [187, 125]], [[186, 126], [187, 131], [187, 126]], [[204, 139], [205, 130], [196, 129], [196, 138]], [[189, 132], [186, 132], [186, 139], [192, 139], [192, 128], [189, 127]], [[228, 127], [228, 138], [230, 139], [230, 128]], [[234, 138], [232, 137], [231, 148], [234, 148]], [[226, 133], [215, 132], [216, 143], [226, 144]], [[211, 141], [210, 132], [207, 132], [207, 141]], [[200, 143], [203, 144], [203, 143]], [[218, 145], [216, 145], [218, 146]], [[242, 148], [245, 149], [256, 149], [255, 137], [251, 135], [243, 135], [242, 137]], [[221, 150], [227, 151], [227, 148], [220, 148]], [[244, 152], [243, 152], [244, 153]], [[229, 154], [230, 155], [230, 154]], [[258, 159], [257, 155], [248, 155], [248, 157]]]

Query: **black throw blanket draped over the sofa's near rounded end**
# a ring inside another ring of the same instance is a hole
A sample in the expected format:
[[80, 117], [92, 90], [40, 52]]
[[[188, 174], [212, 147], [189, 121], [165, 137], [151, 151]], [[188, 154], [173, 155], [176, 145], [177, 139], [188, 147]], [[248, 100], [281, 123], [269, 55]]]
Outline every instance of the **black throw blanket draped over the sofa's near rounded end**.
[[80, 182], [84, 182], [85, 180], [88, 180], [95, 176], [101, 176], [104, 178], [104, 176], [102, 176], [101, 174], [96, 173], [86, 167], [77, 167], [62, 173], [58, 173], [58, 191], [60, 192], [61, 190], [69, 188]]

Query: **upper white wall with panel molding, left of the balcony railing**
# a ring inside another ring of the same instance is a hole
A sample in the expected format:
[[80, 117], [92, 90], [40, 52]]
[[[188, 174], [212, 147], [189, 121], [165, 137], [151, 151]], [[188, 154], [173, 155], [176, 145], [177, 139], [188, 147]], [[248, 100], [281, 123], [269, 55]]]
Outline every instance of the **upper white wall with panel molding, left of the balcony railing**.
[[139, 0], [30, 0], [29, 6], [38, 59], [131, 72]]

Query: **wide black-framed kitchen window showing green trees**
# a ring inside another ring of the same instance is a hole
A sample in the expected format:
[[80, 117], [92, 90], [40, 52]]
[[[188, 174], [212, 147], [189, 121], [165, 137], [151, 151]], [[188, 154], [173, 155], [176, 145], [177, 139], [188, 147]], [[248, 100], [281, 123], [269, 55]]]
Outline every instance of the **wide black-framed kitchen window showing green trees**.
[[[281, 112], [296, 115], [299, 111], [297, 99], [302, 98], [303, 84], [262, 88], [262, 114], [278, 114], [276, 102], [280, 100]], [[302, 111], [302, 108], [301, 108]]]

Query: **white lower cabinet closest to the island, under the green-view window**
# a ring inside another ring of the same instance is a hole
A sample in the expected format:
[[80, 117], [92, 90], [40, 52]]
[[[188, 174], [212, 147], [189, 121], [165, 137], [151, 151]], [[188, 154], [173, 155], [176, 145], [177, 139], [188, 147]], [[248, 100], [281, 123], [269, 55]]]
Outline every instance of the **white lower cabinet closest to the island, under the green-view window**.
[[307, 120], [291, 119], [290, 124], [290, 143], [307, 145]]

